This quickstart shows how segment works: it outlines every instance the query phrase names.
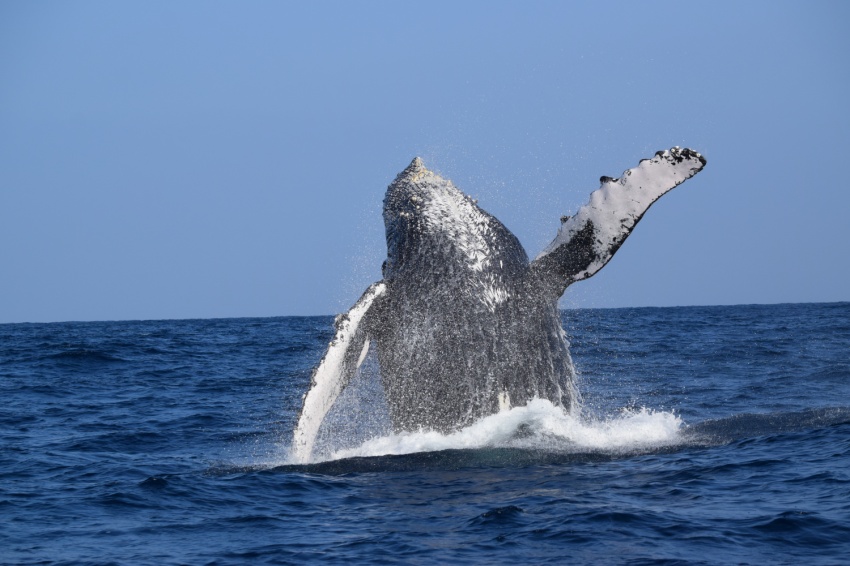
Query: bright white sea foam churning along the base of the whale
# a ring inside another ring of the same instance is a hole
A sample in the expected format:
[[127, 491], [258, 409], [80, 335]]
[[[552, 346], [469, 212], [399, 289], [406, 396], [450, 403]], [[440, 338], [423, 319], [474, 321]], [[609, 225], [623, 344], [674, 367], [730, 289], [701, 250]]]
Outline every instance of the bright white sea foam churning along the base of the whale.
[[537, 399], [525, 407], [485, 417], [452, 434], [423, 431], [381, 436], [317, 460], [500, 447], [630, 452], [677, 444], [682, 427], [681, 418], [671, 412], [623, 410], [615, 417], [588, 419], [571, 416], [549, 401]]

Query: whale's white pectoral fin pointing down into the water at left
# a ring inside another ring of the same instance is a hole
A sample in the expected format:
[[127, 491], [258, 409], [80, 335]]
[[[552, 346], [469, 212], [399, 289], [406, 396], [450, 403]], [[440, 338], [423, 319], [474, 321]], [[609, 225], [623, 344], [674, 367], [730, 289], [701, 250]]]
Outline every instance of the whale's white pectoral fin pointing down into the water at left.
[[372, 284], [344, 315], [334, 322], [336, 333], [325, 356], [313, 371], [309, 391], [295, 427], [291, 453], [296, 462], [305, 463], [313, 453], [319, 427], [339, 394], [351, 381], [369, 351], [368, 318], [375, 300], [386, 291], [383, 282]]

